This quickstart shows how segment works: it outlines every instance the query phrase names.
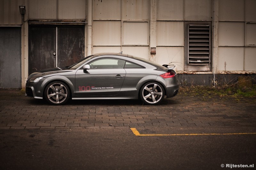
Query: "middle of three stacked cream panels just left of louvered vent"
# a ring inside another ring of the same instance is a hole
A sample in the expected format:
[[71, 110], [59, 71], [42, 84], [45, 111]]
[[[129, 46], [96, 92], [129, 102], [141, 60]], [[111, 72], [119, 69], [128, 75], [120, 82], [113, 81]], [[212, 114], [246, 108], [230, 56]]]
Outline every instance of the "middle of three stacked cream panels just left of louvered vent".
[[157, 21], [156, 44], [158, 46], [184, 46], [184, 22]]

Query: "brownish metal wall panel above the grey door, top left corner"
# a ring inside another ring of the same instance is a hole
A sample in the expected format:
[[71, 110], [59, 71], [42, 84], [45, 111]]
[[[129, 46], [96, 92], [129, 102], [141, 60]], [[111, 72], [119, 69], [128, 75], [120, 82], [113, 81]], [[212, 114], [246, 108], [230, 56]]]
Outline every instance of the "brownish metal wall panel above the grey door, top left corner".
[[25, 5], [25, 0], [0, 0], [0, 25], [20, 25], [21, 4]]

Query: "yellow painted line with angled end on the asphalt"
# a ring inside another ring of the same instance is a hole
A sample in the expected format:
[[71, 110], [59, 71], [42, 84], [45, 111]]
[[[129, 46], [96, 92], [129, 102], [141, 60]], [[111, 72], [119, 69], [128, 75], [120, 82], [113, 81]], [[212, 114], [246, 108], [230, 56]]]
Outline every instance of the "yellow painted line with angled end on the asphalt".
[[140, 134], [136, 128], [130, 128], [135, 136], [200, 136], [200, 135], [256, 135], [256, 133], [190, 133], [190, 134]]

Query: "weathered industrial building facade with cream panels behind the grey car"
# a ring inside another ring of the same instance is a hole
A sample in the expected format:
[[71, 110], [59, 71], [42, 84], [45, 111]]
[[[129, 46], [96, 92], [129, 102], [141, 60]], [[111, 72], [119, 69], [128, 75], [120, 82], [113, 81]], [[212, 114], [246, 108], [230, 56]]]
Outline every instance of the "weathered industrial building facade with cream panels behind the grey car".
[[256, 75], [255, 0], [0, 0], [0, 8], [0, 88], [121, 51], [175, 64], [181, 85]]

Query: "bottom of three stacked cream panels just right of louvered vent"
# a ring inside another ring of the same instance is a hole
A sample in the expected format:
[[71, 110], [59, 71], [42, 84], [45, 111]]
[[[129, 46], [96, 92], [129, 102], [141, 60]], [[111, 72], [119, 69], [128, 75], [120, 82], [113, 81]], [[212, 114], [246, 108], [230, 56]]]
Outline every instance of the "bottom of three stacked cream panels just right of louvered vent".
[[244, 47], [219, 47], [218, 70], [225, 71], [244, 70]]

